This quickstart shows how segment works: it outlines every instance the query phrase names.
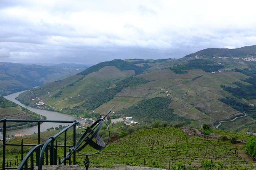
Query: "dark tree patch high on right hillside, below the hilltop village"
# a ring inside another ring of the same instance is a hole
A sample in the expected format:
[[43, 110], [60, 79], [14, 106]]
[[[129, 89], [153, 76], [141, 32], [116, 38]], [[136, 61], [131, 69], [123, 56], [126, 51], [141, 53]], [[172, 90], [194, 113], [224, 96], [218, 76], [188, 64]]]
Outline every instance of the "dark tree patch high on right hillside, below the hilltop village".
[[182, 70], [201, 69], [201, 70], [204, 70], [205, 72], [213, 72], [223, 68], [224, 68], [223, 65], [217, 64], [214, 61], [205, 60], [205, 59], [194, 59], [194, 60], [188, 61], [186, 64], [170, 67], [172, 71], [178, 70], [176, 71], [178, 73], [180, 72], [179, 70], [182, 71]]

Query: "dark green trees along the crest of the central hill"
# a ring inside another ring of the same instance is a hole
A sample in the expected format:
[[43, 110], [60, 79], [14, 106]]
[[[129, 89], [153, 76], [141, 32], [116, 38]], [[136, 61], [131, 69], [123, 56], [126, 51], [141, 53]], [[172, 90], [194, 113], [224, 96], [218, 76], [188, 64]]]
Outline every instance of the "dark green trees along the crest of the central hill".
[[105, 61], [105, 62], [101, 62], [99, 64], [96, 64], [94, 66], [91, 66], [91, 67], [87, 68], [86, 70], [84, 70], [84, 71], [82, 71], [78, 74], [88, 75], [92, 72], [99, 71], [101, 68], [103, 68], [105, 66], [115, 66], [119, 70], [134, 70], [134, 72], [136, 74], [141, 74], [143, 71], [145, 71], [146, 69], [151, 67], [148, 64], [143, 64], [143, 67], [140, 67], [140, 66], [137, 66], [133, 63], [126, 62], [124, 60], [115, 59], [115, 60], [112, 60], [112, 61]]

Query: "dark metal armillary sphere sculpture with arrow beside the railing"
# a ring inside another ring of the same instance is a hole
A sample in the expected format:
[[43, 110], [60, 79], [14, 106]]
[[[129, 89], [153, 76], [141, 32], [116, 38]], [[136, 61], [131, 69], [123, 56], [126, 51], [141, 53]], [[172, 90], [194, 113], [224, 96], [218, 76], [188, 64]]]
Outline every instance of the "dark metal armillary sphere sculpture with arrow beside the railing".
[[64, 157], [61, 161], [59, 160], [59, 165], [61, 165], [65, 160], [69, 160], [71, 155], [74, 152], [77, 152], [86, 156], [84, 165], [86, 170], [88, 170], [90, 165], [88, 156], [102, 151], [109, 141], [110, 131], [104, 119], [109, 115], [113, 108], [114, 106], [107, 112], [104, 118], [100, 117], [100, 119], [95, 121], [90, 127], [87, 127], [85, 133], [78, 140], [75, 147], [70, 148], [66, 157]]

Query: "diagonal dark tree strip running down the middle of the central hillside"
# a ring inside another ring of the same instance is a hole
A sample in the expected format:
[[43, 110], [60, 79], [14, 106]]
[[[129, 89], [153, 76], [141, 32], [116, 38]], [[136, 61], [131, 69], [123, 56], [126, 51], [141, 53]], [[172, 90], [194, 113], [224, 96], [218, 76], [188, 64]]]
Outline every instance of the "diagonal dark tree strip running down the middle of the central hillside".
[[147, 83], [148, 80], [144, 78], [137, 78], [137, 77], [128, 77], [127, 79], [121, 80], [116, 83], [115, 88], [106, 89], [102, 92], [94, 94], [90, 97], [86, 102], [82, 104], [82, 107], [86, 108], [87, 110], [93, 110], [102, 105], [105, 102], [110, 101], [113, 97], [119, 93], [123, 87], [135, 87], [142, 83]]

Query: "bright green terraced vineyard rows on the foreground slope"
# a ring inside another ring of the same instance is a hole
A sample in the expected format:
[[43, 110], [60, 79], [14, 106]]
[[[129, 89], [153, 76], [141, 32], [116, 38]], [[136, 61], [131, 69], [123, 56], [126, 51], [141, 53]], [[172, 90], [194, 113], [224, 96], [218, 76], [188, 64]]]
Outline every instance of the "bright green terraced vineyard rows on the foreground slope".
[[[216, 132], [222, 134], [221, 131]], [[223, 132], [223, 134], [233, 135], [228, 132]], [[71, 135], [69, 132], [70, 142]], [[234, 135], [246, 140], [251, 138], [250, 135]], [[36, 139], [25, 140], [28, 143], [37, 142]], [[12, 141], [12, 143], [19, 142], [21, 139]], [[255, 167], [255, 162], [245, 154], [244, 146], [244, 144], [231, 144], [230, 141], [187, 136], [180, 128], [141, 129], [109, 144], [101, 153], [89, 156], [89, 159], [91, 167], [121, 165], [168, 169], [175, 169], [175, 167], [180, 169], [185, 169], [185, 167], [186, 169], [252, 169]], [[62, 158], [63, 152], [62, 148], [58, 148], [58, 157]], [[14, 164], [16, 156], [20, 157], [20, 154], [8, 155], [7, 159]], [[78, 164], [83, 165], [84, 159], [84, 156], [77, 154]]]

